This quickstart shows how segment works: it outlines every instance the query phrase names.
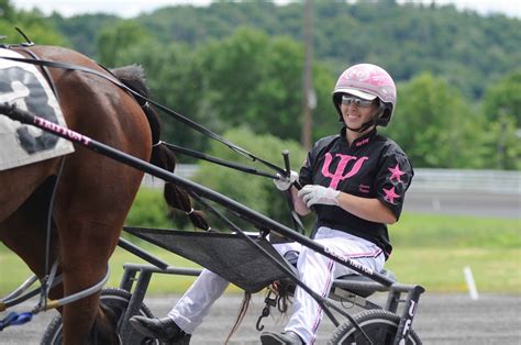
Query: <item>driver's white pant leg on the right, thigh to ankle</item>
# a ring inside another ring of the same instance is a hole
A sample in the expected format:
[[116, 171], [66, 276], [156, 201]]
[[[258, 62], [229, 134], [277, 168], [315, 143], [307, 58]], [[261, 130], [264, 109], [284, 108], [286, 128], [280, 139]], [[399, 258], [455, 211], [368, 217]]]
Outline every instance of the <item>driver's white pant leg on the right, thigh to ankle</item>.
[[[367, 246], [366, 243], [359, 243], [343, 235], [340, 237], [319, 237], [315, 241], [375, 270], [380, 270], [384, 266], [381, 249], [374, 244], [369, 243]], [[329, 294], [335, 277], [352, 272], [343, 265], [336, 264], [333, 259], [326, 258], [304, 246], [301, 248], [297, 268], [302, 282], [321, 297]], [[286, 331], [296, 332], [306, 344], [312, 344], [317, 337], [317, 330], [322, 316], [323, 310], [315, 300], [303, 289], [297, 287], [295, 291], [293, 314], [286, 326]]]

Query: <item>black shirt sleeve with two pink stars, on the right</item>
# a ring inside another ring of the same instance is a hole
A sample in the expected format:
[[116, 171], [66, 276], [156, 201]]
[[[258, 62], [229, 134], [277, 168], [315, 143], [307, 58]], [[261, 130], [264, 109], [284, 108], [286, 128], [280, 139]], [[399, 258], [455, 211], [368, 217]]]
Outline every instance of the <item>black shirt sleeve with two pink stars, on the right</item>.
[[384, 154], [375, 187], [378, 200], [392, 211], [397, 220], [413, 176], [414, 171], [406, 154], [396, 149], [388, 149]]

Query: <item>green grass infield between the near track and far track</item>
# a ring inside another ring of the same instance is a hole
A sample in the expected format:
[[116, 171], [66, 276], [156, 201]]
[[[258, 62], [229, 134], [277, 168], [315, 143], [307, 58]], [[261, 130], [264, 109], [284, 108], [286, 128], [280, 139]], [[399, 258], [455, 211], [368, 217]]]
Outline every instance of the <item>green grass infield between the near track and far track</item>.
[[[454, 215], [403, 214], [390, 229], [395, 244], [387, 263], [400, 282], [420, 283], [429, 292], [466, 291], [463, 269], [472, 268], [479, 292], [521, 293], [521, 227], [519, 220]], [[147, 251], [173, 266], [197, 267], [191, 261], [152, 245]], [[142, 263], [117, 249], [108, 286], [117, 287], [124, 263]], [[30, 275], [25, 265], [0, 246], [0, 296]], [[180, 293], [193, 277], [154, 275], [148, 293]], [[239, 292], [236, 287], [231, 291]]]

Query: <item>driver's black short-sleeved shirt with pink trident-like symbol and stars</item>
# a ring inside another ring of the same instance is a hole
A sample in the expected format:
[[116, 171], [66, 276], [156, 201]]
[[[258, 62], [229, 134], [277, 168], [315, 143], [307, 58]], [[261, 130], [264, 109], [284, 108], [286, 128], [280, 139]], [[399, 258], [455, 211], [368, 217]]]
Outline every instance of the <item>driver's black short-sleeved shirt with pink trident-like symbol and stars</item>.
[[[345, 127], [314, 143], [303, 167], [300, 183], [320, 185], [362, 198], [377, 198], [399, 219], [403, 198], [414, 175], [403, 151], [376, 129], [350, 146]], [[392, 246], [387, 225], [361, 219], [336, 205], [315, 204], [317, 227], [328, 226], [365, 238], [380, 247], [386, 258]]]

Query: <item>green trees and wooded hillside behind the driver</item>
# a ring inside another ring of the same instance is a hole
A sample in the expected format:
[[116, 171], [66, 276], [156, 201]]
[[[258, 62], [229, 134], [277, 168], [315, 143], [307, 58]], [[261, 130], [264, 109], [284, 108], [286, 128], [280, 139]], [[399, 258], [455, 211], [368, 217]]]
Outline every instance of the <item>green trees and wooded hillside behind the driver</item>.
[[[132, 20], [44, 18], [0, 4], [0, 29], [10, 32], [10, 42], [20, 41], [11, 38], [18, 25], [37, 43], [69, 45], [108, 67], [141, 64], [154, 99], [218, 133], [241, 125], [251, 135], [300, 138], [301, 3], [217, 2]], [[398, 81], [398, 107], [386, 132], [415, 167], [521, 168], [519, 20], [395, 1], [318, 1], [313, 14], [315, 138], [339, 129], [331, 104], [339, 73], [369, 62]], [[182, 124], [164, 123], [164, 140], [209, 147]]]

